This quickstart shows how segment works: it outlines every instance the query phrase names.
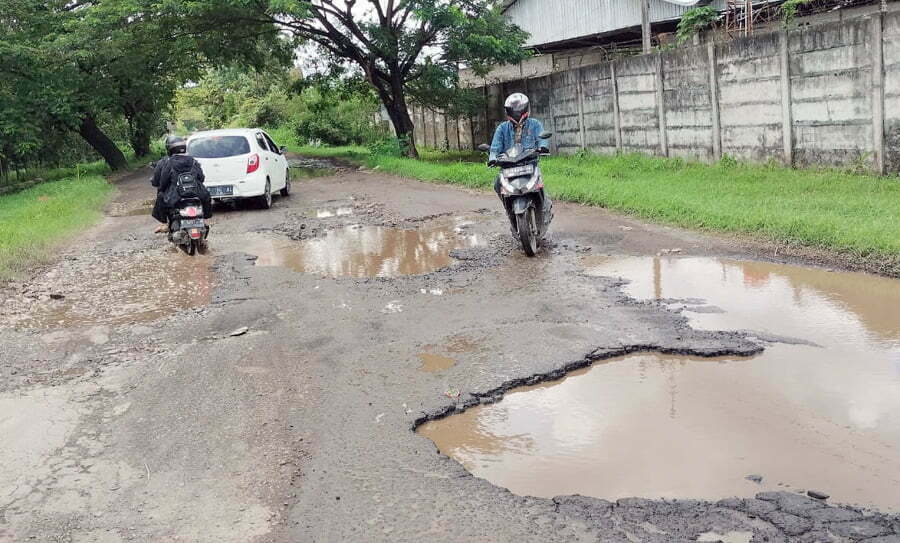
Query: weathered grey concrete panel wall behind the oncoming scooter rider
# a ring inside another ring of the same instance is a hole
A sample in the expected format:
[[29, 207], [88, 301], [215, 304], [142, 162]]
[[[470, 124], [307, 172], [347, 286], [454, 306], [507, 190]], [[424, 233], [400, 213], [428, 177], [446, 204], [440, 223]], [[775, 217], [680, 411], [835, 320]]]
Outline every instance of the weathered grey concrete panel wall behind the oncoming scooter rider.
[[442, 115], [425, 115], [424, 124], [417, 116], [417, 142], [451, 149], [488, 142], [504, 96], [520, 91], [560, 153], [705, 162], [727, 153], [900, 171], [898, 12], [534, 73], [482, 87], [485, 111], [466, 122], [465, 137], [460, 122], [450, 121], [453, 136]]

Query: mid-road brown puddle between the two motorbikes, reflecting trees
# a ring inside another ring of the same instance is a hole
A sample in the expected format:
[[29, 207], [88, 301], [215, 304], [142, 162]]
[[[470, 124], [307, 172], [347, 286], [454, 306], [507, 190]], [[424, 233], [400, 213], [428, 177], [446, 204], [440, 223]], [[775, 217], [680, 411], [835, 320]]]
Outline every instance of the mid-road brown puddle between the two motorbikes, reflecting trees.
[[430, 273], [453, 262], [450, 251], [483, 244], [477, 234], [458, 235], [454, 224], [419, 230], [351, 226], [323, 238], [292, 242], [256, 236], [239, 250], [256, 255], [258, 266], [351, 277], [396, 277]]

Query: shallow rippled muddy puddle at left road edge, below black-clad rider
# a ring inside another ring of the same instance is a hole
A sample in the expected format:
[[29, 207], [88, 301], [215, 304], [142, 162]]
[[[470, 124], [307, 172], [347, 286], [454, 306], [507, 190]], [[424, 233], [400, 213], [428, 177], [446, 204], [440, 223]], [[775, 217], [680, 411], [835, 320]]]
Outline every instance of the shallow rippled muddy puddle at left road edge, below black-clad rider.
[[27, 311], [5, 315], [16, 328], [85, 327], [149, 322], [209, 303], [211, 260], [181, 254], [111, 259], [67, 277], [61, 300], [33, 301]]

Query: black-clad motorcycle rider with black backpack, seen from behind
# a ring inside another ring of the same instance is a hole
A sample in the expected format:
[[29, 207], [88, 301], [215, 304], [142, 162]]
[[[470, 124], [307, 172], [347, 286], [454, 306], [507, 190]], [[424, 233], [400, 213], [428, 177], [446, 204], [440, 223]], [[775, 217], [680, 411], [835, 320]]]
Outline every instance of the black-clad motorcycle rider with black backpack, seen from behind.
[[166, 152], [169, 156], [157, 163], [151, 181], [156, 187], [153, 218], [163, 223], [156, 229], [156, 233], [163, 233], [168, 229], [169, 213], [184, 198], [199, 198], [203, 203], [203, 217], [207, 220], [212, 217], [212, 197], [203, 184], [206, 177], [200, 163], [187, 154], [187, 141], [178, 136], [169, 136], [166, 138]]

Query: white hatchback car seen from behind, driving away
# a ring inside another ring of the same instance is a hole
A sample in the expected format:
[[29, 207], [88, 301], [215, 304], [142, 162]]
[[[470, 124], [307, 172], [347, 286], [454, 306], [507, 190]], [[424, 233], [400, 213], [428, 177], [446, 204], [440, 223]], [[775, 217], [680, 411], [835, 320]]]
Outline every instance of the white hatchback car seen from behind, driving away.
[[188, 138], [187, 152], [203, 168], [213, 200], [253, 198], [268, 209], [275, 191], [291, 192], [285, 148], [258, 128], [197, 132]]

